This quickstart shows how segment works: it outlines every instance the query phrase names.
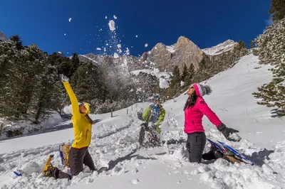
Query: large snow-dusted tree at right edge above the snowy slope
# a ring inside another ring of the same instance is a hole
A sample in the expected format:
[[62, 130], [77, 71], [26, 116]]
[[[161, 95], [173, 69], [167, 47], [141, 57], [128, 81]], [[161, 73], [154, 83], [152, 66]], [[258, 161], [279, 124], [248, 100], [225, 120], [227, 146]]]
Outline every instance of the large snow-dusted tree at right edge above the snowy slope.
[[261, 63], [274, 66], [274, 78], [269, 84], [258, 88], [254, 96], [261, 98], [259, 104], [268, 107], [279, 107], [280, 112], [285, 108], [285, 18], [266, 28], [255, 43]]

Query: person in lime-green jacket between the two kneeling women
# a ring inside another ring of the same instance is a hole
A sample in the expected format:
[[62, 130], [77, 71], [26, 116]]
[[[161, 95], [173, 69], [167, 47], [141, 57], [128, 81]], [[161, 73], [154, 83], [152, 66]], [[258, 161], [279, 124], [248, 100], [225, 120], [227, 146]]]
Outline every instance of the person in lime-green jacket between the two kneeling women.
[[[164, 119], [165, 109], [163, 109], [162, 105], [160, 104], [160, 95], [154, 95], [153, 104], [150, 104], [150, 106], [147, 107], [145, 109], [145, 112], [142, 114], [142, 120], [145, 121], [145, 123], [142, 124], [142, 128], [140, 129], [140, 146], [142, 146], [142, 143], [145, 139], [145, 131], [150, 134], [150, 142], [154, 146], [160, 144], [160, 124]], [[148, 126], [148, 123], [152, 123], [152, 125]]]

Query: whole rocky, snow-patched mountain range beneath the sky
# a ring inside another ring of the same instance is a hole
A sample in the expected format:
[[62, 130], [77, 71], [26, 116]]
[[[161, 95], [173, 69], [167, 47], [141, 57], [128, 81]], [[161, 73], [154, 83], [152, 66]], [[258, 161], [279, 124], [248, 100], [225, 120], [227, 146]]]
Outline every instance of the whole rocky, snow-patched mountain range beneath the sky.
[[[134, 56], [128, 56], [128, 68], [130, 71], [143, 70], [150, 68], [157, 68], [162, 72], [172, 72], [175, 65], [178, 65], [180, 70], [182, 70], [183, 65], [189, 67], [191, 64], [194, 65], [195, 70], [199, 70], [201, 67], [200, 63], [202, 60], [206, 60], [207, 64], [211, 64], [212, 56], [217, 62], [223, 66], [223, 63], [234, 63], [235, 60], [221, 60], [222, 53], [231, 50], [234, 45], [238, 43], [228, 40], [224, 43], [216, 45], [212, 48], [206, 48], [201, 50], [195, 43], [190, 41], [190, 39], [181, 36], [177, 39], [177, 43], [173, 45], [165, 45], [163, 43], [157, 43], [150, 51], [142, 53], [139, 58]], [[239, 52], [233, 53], [239, 55]], [[243, 54], [242, 54], [243, 55]], [[209, 58], [209, 56], [211, 58]], [[123, 63], [125, 61], [125, 56], [101, 56], [89, 53], [88, 55], [80, 55], [81, 60], [93, 61], [95, 64], [104, 63], [105, 59], [112, 60], [113, 62]]]

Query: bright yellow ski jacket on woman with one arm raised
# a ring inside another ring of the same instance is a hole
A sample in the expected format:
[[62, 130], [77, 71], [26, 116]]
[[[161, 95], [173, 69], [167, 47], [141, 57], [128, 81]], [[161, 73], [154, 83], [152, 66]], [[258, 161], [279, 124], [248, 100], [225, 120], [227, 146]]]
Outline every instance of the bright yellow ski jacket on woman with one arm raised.
[[78, 100], [73, 90], [71, 89], [71, 85], [69, 84], [69, 82], [63, 82], [63, 85], [64, 87], [66, 87], [66, 92], [68, 93], [68, 96], [71, 99], [72, 106], [73, 117], [71, 118], [71, 121], [73, 123], [74, 141], [71, 146], [73, 148], [88, 147], [90, 145], [92, 136], [92, 124], [86, 117], [86, 114], [90, 113], [89, 104], [85, 104], [85, 107], [87, 109], [86, 114], [81, 114], [78, 107]]

